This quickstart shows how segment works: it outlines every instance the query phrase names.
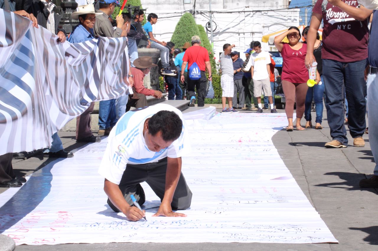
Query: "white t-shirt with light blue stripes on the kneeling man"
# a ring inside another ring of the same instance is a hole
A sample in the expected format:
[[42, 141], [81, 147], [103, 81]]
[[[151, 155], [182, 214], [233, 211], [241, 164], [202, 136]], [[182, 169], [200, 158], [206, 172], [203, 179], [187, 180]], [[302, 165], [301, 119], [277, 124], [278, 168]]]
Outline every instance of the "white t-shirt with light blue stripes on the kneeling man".
[[[175, 112], [183, 121], [183, 130], [180, 137], [169, 147], [160, 152], [152, 152], [144, 141], [144, 121], [161, 110]], [[186, 155], [190, 150], [189, 135], [181, 111], [167, 104], [156, 104], [129, 111], [119, 119], [108, 136], [108, 145], [98, 172], [108, 181], [118, 185], [126, 164], [157, 162], [165, 157], [178, 158]]]

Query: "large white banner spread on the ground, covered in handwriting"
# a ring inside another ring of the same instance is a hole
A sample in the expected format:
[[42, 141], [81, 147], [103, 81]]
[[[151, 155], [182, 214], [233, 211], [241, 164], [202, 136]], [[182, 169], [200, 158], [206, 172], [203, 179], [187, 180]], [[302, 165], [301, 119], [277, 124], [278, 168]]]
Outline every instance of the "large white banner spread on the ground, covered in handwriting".
[[17, 245], [337, 242], [272, 143], [286, 125], [279, 113], [187, 120], [192, 154], [183, 158], [182, 171], [193, 193], [191, 207], [181, 211], [187, 217], [152, 217], [160, 199], [143, 183], [147, 221], [138, 222], [106, 203], [104, 178], [97, 172], [107, 144], [103, 138], [0, 194], [0, 233]]

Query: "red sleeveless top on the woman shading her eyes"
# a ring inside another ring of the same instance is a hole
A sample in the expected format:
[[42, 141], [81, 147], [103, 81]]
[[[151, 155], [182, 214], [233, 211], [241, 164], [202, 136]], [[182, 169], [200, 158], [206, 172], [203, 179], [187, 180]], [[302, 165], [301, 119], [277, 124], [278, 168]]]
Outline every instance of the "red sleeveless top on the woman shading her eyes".
[[282, 55], [282, 74], [281, 79], [291, 83], [306, 83], [308, 71], [305, 66], [307, 44], [303, 44], [299, 50], [291, 49], [288, 43], [283, 43]]

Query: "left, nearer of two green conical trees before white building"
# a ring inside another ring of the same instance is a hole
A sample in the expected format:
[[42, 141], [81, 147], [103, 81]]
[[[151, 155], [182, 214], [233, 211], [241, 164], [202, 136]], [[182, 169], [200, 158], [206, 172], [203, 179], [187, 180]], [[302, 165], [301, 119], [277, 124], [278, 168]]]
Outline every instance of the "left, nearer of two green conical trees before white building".
[[187, 12], [182, 15], [182, 17], [178, 21], [170, 41], [174, 42], [176, 47], [181, 47], [185, 42], [190, 43], [191, 38], [194, 35], [199, 36], [200, 31], [198, 30], [197, 24], [195, 23], [192, 14]]

